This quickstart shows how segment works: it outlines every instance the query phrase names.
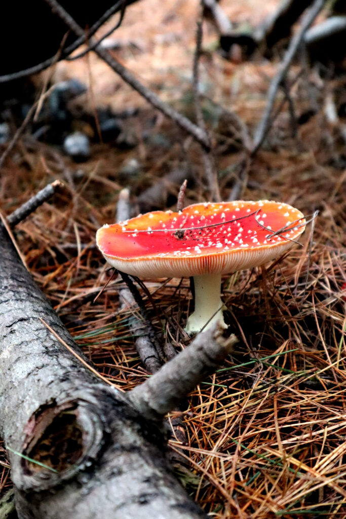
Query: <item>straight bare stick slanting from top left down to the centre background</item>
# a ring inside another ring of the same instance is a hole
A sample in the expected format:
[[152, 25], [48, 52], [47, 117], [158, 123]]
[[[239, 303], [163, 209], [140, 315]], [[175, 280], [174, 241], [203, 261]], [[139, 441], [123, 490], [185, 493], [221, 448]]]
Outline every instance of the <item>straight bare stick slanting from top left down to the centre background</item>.
[[[56, 1], [56, 0], [45, 0], [47, 4], [52, 8], [53, 12], [66, 23], [66, 25], [77, 35], [84, 36], [83, 29], [75, 22], [75, 20], [68, 14], [68, 12]], [[94, 45], [94, 40], [90, 39], [90, 46]], [[171, 106], [167, 105], [160, 98], [147, 87], [142, 85], [125, 67], [123, 67], [118, 61], [116, 61], [112, 54], [107, 49], [96, 47], [94, 52], [103, 59], [111, 69], [113, 69], [128, 85], [134, 90], [139, 92], [144, 99], [146, 99], [151, 105], [155, 106], [160, 112], [172, 119], [181, 128], [186, 130], [193, 138], [199, 142], [205, 149], [210, 149], [210, 142], [206, 132], [193, 124], [189, 119], [184, 117], [182, 114], [176, 112]]]

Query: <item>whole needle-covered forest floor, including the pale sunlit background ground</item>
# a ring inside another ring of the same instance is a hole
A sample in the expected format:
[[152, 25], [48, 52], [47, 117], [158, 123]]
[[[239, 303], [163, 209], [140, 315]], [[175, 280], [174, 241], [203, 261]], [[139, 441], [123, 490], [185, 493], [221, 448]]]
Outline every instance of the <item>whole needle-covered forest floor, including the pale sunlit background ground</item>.
[[[256, 25], [276, 2], [261, 5], [260, 12], [254, 1], [230, 4], [225, 9], [233, 21]], [[139, 2], [114, 36], [117, 59], [191, 118], [196, 12], [197, 2]], [[227, 200], [244, 152], [224, 109], [253, 134], [279, 60], [230, 63], [216, 44], [205, 23], [202, 107], [217, 143], [219, 185]], [[289, 78], [298, 70], [293, 65]], [[76, 118], [72, 127], [95, 136], [95, 108], [109, 107], [122, 114], [122, 145], [93, 142], [91, 157], [75, 163], [60, 145], [26, 132], [3, 167], [0, 206], [10, 214], [47, 183], [64, 183], [17, 226], [19, 248], [86, 356], [103, 376], [129, 390], [148, 376], [128, 327], [137, 310], [119, 311], [120, 277], [93, 303], [109, 279], [95, 232], [115, 221], [123, 187], [131, 190], [134, 213], [174, 209], [179, 184], [167, 175], [175, 170], [190, 175], [186, 205], [209, 200], [201, 149], [95, 56], [59, 63], [52, 80], [72, 77], [88, 86], [73, 102], [76, 113], [88, 117]], [[345, 77], [323, 79], [314, 68], [300, 74], [290, 91], [296, 126], [284, 104], [248, 168], [244, 199], [284, 201], [319, 215], [302, 246], [280, 261], [223, 277], [227, 319], [240, 344], [183, 402], [186, 444], [170, 440], [189, 465], [178, 474], [183, 484], [216, 519], [346, 517], [345, 85]], [[330, 104], [339, 114], [334, 122]], [[160, 182], [153, 201], [147, 189]], [[190, 340], [184, 332], [193, 303], [189, 280], [145, 284], [151, 296], [143, 298], [158, 336], [182, 350]], [[3, 493], [11, 483], [1, 444], [0, 472]]]

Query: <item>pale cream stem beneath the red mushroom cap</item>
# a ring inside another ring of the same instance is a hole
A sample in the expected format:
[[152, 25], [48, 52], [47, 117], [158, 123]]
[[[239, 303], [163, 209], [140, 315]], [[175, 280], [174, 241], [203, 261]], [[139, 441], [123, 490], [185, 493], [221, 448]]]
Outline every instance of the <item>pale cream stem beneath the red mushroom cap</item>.
[[193, 276], [195, 284], [195, 311], [189, 316], [185, 331], [198, 333], [209, 330], [214, 323], [219, 322], [222, 328], [227, 328], [224, 321], [221, 301], [221, 274], [206, 274]]

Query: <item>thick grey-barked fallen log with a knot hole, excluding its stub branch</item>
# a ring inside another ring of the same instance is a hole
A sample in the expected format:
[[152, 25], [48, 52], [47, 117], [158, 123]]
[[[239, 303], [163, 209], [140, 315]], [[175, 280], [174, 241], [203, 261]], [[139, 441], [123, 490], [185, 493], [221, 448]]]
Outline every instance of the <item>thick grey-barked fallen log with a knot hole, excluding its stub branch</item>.
[[20, 519], [205, 517], [175, 480], [165, 439], [48, 331], [77, 348], [0, 226], [0, 434]]

